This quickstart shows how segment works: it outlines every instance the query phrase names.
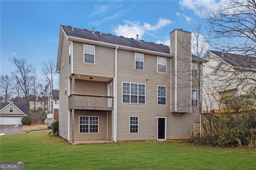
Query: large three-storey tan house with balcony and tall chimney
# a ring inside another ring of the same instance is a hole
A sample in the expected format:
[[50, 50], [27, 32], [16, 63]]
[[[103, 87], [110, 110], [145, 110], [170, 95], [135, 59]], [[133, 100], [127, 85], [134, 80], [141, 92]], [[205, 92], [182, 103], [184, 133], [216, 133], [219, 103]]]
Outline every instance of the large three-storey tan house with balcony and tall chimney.
[[190, 32], [170, 38], [168, 46], [61, 25], [60, 136], [75, 144], [198, 135], [203, 60], [191, 55]]

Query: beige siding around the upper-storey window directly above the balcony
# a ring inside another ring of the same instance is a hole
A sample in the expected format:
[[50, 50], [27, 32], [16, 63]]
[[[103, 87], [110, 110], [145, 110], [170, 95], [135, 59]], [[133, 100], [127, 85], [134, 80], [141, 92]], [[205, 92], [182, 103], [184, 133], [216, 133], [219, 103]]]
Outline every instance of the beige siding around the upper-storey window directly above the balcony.
[[84, 44], [73, 42], [74, 73], [114, 77], [115, 75], [115, 49], [95, 45], [95, 64], [84, 63]]

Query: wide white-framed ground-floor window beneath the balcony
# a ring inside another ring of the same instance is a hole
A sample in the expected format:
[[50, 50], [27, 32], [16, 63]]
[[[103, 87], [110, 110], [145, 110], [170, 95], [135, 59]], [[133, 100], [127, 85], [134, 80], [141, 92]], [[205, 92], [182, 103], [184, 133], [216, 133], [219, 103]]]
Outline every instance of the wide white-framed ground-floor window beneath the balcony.
[[98, 133], [99, 117], [95, 116], [79, 116], [79, 132], [80, 133]]

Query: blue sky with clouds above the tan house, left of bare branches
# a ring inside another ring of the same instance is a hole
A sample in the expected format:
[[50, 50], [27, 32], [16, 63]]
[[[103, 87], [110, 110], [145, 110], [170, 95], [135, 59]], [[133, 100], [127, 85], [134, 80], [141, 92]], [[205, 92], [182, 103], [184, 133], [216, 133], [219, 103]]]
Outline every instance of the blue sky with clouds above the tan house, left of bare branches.
[[15, 70], [9, 59], [41, 63], [57, 59], [60, 24], [168, 44], [175, 28], [192, 32], [203, 11], [218, 2], [181, 1], [0, 1], [0, 74]]

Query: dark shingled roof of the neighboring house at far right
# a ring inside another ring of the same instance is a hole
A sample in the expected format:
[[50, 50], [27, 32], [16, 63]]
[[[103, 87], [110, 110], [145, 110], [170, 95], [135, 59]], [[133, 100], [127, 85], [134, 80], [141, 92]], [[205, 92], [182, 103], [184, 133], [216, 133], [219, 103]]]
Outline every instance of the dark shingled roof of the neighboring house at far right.
[[240, 55], [240, 54], [233, 54], [233, 53], [223, 53], [218, 51], [212, 51], [218, 57], [224, 59], [227, 63], [233, 65], [234, 67], [242, 67], [242, 68], [249, 68], [249, 69], [256, 69], [256, 57], [248, 56], [248, 55]]

